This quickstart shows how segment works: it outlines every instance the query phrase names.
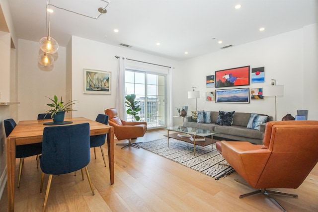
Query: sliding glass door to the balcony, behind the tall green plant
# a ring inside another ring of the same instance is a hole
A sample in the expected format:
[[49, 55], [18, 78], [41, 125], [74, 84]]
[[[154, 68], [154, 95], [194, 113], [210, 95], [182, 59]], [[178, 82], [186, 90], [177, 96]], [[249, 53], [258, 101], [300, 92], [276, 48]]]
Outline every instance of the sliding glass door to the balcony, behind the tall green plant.
[[[136, 95], [140, 121], [147, 122], [149, 130], [166, 127], [166, 75], [126, 69], [125, 92]], [[134, 121], [128, 114], [127, 120]]]

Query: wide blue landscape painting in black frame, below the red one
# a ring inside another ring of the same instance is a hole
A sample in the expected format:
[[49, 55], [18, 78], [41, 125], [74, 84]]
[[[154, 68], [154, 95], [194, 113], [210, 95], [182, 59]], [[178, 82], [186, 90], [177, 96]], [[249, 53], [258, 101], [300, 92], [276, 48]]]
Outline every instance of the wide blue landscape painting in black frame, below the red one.
[[249, 103], [249, 88], [215, 90], [216, 103]]

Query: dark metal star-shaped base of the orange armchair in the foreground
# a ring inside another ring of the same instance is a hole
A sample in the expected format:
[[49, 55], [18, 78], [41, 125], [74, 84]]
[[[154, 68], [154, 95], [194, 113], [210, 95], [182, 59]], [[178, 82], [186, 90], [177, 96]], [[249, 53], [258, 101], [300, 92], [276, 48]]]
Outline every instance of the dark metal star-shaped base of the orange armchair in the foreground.
[[[235, 178], [235, 181], [237, 181], [243, 185], [249, 186], [246, 182], [242, 182], [242, 181], [238, 180], [237, 178]], [[274, 198], [272, 198], [270, 196], [270, 194], [284, 195], [284, 196], [298, 198], [297, 194], [290, 194], [290, 193], [274, 191], [274, 190], [269, 190], [269, 189], [259, 189], [259, 190], [253, 191], [253, 192], [249, 192], [247, 194], [239, 195], [239, 199], [244, 198], [244, 197], [248, 197], [248, 196], [251, 196], [254, 194], [264, 194], [266, 197], [268, 197], [270, 199], [270, 201], [272, 201], [276, 206], [278, 206], [280, 208], [280, 210], [282, 210], [283, 212], [287, 212], [287, 210], [283, 206], [281, 206]]]

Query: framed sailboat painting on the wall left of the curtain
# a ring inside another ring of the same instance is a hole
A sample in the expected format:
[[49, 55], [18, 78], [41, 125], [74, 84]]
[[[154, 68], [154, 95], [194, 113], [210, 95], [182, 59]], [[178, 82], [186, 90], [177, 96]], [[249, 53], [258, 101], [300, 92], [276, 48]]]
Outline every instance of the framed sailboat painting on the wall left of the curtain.
[[85, 94], [111, 94], [111, 72], [84, 69]]

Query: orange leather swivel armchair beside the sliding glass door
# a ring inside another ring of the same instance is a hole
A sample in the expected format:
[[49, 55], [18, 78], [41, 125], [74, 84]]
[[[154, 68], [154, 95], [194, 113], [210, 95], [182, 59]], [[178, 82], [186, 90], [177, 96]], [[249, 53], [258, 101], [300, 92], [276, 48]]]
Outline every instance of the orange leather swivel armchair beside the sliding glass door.
[[126, 122], [119, 119], [117, 110], [115, 108], [109, 108], [105, 110], [105, 114], [108, 115], [108, 124], [114, 127], [114, 134], [117, 140], [128, 139], [128, 143], [116, 143], [117, 145], [123, 145], [122, 148], [127, 146], [133, 146], [139, 148], [136, 143], [131, 142], [131, 139], [143, 137], [147, 131], [146, 122]]

